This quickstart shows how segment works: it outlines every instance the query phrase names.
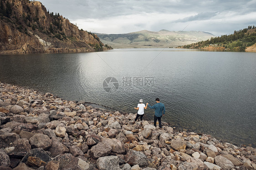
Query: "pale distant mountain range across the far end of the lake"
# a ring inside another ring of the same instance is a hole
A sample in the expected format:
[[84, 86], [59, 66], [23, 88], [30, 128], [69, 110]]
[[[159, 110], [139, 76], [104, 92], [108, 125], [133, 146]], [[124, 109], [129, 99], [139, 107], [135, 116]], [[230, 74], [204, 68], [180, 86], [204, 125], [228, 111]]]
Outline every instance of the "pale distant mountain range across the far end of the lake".
[[208, 40], [215, 35], [204, 31], [169, 31], [158, 32], [141, 30], [127, 34], [99, 34], [102, 43], [113, 48], [165, 48], [188, 45]]

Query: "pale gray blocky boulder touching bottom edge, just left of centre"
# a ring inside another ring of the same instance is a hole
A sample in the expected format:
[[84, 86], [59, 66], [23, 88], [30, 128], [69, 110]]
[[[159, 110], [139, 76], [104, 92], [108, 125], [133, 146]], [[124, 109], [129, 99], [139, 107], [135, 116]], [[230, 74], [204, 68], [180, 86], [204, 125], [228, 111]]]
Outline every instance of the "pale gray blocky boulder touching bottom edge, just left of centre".
[[119, 170], [118, 156], [105, 156], [97, 159], [97, 168], [99, 170]]

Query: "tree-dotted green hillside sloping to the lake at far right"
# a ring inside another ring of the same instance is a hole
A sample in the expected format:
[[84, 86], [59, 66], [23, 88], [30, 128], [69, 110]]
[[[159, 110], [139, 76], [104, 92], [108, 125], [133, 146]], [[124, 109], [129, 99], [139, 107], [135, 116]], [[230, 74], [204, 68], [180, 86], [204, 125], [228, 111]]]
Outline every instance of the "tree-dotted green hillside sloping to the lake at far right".
[[204, 50], [256, 51], [256, 27], [248, 26], [243, 30], [235, 30], [234, 34], [221, 35], [209, 40], [200, 41], [180, 48]]

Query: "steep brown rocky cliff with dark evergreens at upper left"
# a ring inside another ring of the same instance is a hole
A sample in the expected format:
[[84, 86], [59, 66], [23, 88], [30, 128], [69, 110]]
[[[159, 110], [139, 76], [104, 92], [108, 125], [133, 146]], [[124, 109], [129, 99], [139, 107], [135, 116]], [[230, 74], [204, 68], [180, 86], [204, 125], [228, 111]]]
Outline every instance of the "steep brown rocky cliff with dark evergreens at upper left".
[[107, 50], [97, 35], [79, 30], [39, 1], [0, 0], [0, 54]]

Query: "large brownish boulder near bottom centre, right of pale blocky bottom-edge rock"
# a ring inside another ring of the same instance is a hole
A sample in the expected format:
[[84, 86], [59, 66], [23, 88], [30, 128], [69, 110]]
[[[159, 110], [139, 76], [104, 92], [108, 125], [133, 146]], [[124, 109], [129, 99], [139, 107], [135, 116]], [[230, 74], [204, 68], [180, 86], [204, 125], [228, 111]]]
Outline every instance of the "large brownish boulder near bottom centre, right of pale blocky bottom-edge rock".
[[148, 166], [147, 156], [135, 150], [129, 150], [124, 156], [124, 161], [130, 165]]

